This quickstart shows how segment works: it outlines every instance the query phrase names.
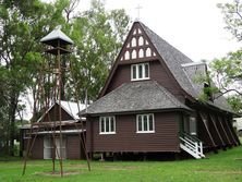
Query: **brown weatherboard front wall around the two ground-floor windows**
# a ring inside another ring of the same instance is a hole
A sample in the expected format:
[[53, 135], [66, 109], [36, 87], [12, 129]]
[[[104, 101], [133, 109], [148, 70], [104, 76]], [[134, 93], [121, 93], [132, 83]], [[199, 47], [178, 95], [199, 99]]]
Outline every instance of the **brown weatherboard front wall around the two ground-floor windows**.
[[136, 133], [136, 114], [116, 116], [116, 134], [99, 134], [99, 118], [87, 120], [88, 151], [180, 151], [179, 113], [155, 113], [155, 133]]

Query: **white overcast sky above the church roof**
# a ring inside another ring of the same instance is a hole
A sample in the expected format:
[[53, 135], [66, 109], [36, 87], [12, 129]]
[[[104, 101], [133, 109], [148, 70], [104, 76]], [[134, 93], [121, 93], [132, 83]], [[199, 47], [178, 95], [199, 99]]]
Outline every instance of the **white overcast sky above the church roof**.
[[[90, 0], [80, 1], [80, 11], [89, 8]], [[232, 0], [105, 0], [105, 2], [107, 10], [125, 9], [133, 21], [137, 17], [136, 7], [140, 4], [141, 22], [193, 61], [213, 60], [241, 48], [241, 44], [232, 39], [230, 33], [223, 28], [226, 24], [217, 8], [217, 3], [232, 2]]]

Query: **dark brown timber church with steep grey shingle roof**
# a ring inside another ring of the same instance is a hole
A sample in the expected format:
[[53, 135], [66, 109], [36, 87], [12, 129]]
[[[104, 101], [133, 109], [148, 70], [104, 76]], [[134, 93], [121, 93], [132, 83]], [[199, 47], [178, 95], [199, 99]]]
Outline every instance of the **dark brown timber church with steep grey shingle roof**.
[[[205, 63], [193, 62], [141, 22], [134, 22], [99, 98], [86, 117], [87, 150], [106, 154], [189, 154], [240, 145], [233, 111], [223, 97], [204, 92], [213, 83]], [[207, 94], [208, 101], [199, 101]]]

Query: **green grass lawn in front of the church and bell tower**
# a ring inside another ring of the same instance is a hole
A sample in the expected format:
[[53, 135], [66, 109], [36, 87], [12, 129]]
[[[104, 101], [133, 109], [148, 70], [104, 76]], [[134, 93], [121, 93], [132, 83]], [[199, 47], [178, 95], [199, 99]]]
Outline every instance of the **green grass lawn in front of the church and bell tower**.
[[63, 178], [49, 174], [51, 160], [29, 160], [26, 173], [22, 177], [23, 163], [20, 159], [13, 159], [0, 161], [0, 182], [242, 181], [242, 146], [219, 150], [219, 154], [206, 154], [206, 157], [177, 161], [92, 161], [90, 172], [84, 160], [65, 160], [63, 169], [70, 174], [65, 173]]

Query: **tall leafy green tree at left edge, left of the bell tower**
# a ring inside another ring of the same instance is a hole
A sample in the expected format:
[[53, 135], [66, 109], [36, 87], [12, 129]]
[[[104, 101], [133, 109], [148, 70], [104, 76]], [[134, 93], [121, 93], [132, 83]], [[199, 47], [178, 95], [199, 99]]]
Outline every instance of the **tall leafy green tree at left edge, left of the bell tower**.
[[0, 97], [4, 111], [1, 122], [5, 151], [13, 155], [20, 96], [34, 85], [43, 61], [38, 41], [56, 24], [53, 21], [58, 23], [59, 16], [52, 5], [39, 0], [0, 2]]

